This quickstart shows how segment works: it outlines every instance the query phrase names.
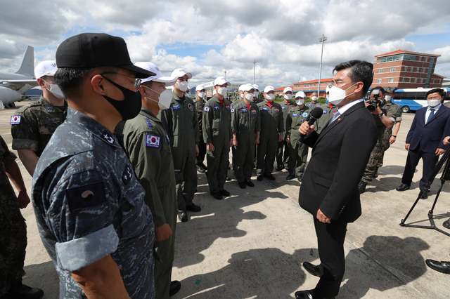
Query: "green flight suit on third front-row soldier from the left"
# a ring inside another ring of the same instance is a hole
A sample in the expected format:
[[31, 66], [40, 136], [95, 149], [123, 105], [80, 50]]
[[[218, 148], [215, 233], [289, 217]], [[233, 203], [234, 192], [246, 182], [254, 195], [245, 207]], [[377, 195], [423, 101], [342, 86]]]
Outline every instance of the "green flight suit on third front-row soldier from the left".
[[203, 140], [214, 145], [214, 152], [206, 151], [208, 185], [211, 192], [224, 190], [228, 165], [231, 133], [231, 102], [224, 98], [222, 105], [216, 95], [203, 108]]

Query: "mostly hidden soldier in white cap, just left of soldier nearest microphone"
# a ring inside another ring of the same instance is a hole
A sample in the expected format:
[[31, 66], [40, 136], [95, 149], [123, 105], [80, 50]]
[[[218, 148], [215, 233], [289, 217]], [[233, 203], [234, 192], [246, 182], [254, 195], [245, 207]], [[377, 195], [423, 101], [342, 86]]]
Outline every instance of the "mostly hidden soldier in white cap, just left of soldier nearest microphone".
[[[293, 88], [290, 88], [289, 86], [284, 88], [284, 100], [280, 103], [281, 110], [283, 111], [283, 128], [286, 128], [286, 119], [288, 119], [289, 109], [297, 106], [297, 104], [295, 104], [295, 101], [291, 100], [293, 96]], [[276, 152], [276, 171], [282, 171], [283, 168], [288, 168], [289, 147], [285, 139], [285, 132], [283, 132], [283, 140], [278, 142], [278, 150]]]

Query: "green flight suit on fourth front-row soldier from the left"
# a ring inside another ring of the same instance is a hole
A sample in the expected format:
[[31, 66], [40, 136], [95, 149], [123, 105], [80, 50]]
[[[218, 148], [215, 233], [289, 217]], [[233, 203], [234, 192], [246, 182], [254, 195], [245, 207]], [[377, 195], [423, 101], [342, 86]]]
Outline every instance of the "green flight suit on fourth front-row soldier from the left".
[[261, 131], [261, 115], [255, 102], [250, 102], [250, 109], [245, 100], [231, 109], [231, 129], [238, 140], [238, 146], [233, 146], [234, 175], [238, 182], [246, 182], [252, 177], [255, 138]]

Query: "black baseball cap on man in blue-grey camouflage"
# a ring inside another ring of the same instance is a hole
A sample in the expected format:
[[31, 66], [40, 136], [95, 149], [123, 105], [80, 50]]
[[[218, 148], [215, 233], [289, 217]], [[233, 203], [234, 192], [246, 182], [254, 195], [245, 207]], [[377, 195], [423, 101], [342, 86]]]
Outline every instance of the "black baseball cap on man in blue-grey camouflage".
[[56, 50], [56, 65], [61, 67], [122, 67], [136, 73], [136, 78], [155, 76], [131, 62], [127, 44], [119, 36], [82, 33], [63, 41]]

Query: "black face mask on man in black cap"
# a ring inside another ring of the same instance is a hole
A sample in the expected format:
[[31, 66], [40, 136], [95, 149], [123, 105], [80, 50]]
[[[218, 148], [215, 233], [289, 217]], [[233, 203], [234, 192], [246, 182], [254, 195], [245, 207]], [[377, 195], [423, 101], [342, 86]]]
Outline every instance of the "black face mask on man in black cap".
[[103, 98], [108, 100], [113, 107], [117, 110], [117, 112], [122, 115], [122, 120], [134, 119], [141, 111], [142, 102], [141, 102], [141, 93], [139, 91], [130, 91], [128, 88], [124, 88], [119, 84], [111, 81], [110, 79], [103, 77], [106, 80], [110, 81], [114, 86], [120, 89], [124, 94], [124, 100], [114, 100], [107, 95], [103, 95]]

